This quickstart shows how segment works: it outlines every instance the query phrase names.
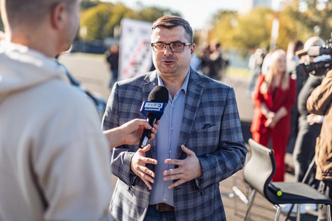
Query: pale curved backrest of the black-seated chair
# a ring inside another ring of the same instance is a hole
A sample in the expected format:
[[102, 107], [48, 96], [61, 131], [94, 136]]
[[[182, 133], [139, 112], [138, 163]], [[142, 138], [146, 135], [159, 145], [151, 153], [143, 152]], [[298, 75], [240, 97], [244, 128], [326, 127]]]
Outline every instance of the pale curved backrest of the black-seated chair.
[[248, 143], [251, 155], [243, 166], [243, 177], [251, 187], [265, 195], [267, 185], [275, 173], [274, 154], [271, 149], [251, 138]]

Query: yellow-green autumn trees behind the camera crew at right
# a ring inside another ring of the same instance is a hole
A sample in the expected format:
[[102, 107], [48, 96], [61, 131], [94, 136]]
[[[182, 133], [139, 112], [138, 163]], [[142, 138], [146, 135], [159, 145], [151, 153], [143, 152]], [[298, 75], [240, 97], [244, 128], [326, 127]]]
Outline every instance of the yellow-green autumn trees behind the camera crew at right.
[[[221, 10], [212, 16], [209, 39], [219, 40], [225, 48], [237, 48], [242, 54], [257, 47], [268, 48], [273, 18], [279, 20], [278, 48], [286, 49], [291, 40], [303, 42], [313, 36], [313, 27], [319, 26], [319, 36], [330, 38], [332, 30], [332, 0], [294, 0], [293, 5], [275, 12], [258, 7], [247, 14]], [[298, 3], [307, 4], [307, 10], [298, 10]], [[323, 2], [325, 7], [319, 7]]]

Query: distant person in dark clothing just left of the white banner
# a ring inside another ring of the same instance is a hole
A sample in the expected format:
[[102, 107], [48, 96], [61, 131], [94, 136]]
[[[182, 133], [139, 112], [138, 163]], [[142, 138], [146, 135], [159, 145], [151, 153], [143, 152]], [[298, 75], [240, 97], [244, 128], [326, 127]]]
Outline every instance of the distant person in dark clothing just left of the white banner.
[[108, 88], [112, 88], [113, 84], [117, 81], [118, 75], [118, 45], [113, 44], [109, 51], [106, 52], [106, 60], [110, 65], [110, 79]]

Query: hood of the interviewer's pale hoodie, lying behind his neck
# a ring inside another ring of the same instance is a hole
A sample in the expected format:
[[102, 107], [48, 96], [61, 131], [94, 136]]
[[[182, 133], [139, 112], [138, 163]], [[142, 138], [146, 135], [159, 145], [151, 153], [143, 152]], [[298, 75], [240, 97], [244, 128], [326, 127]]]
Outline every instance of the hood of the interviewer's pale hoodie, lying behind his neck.
[[0, 101], [50, 78], [67, 81], [64, 67], [53, 58], [20, 44], [0, 42]]

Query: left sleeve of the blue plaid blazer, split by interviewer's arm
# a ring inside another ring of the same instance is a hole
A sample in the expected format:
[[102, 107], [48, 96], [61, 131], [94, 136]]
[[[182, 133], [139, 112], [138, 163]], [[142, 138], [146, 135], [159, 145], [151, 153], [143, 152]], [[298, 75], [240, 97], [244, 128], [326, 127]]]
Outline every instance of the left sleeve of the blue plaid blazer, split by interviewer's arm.
[[[109, 95], [107, 107], [102, 119], [102, 129], [111, 129], [119, 126], [118, 112], [118, 84], [114, 84]], [[109, 150], [110, 168], [112, 173], [131, 187], [130, 183], [130, 161], [134, 152], [128, 151], [126, 145], [121, 145]]]

